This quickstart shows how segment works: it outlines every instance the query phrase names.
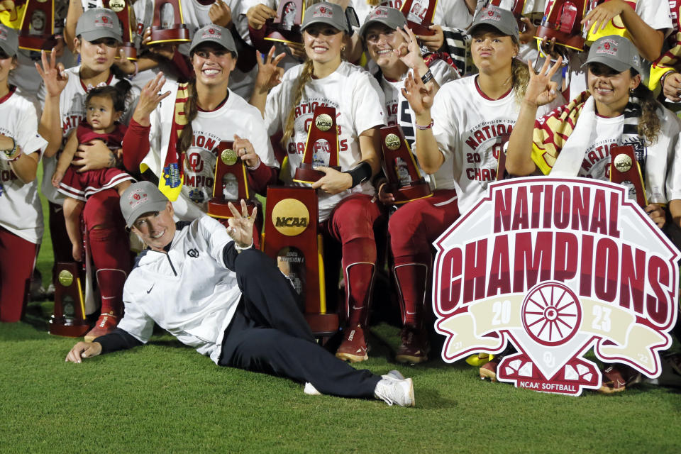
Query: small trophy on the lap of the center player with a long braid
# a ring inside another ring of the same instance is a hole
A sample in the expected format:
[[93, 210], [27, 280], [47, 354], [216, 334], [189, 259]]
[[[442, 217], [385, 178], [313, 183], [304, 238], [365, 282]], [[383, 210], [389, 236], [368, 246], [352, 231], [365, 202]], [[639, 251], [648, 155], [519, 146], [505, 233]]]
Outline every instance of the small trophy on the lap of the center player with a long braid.
[[341, 170], [338, 165], [338, 128], [336, 127], [336, 109], [319, 106], [314, 109], [312, 122], [307, 133], [307, 143], [303, 162], [296, 169], [294, 182], [314, 183], [323, 177], [324, 172], [314, 167], [331, 167]]

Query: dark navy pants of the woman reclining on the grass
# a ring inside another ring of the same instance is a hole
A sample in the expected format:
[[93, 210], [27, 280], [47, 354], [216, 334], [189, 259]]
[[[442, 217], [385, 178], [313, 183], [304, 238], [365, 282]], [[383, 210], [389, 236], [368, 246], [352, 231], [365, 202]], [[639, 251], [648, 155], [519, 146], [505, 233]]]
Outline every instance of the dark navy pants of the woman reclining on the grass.
[[298, 294], [274, 260], [259, 250], [236, 259], [243, 294], [225, 331], [219, 365], [310, 382], [322, 394], [373, 397], [380, 377], [356, 370], [314, 341]]

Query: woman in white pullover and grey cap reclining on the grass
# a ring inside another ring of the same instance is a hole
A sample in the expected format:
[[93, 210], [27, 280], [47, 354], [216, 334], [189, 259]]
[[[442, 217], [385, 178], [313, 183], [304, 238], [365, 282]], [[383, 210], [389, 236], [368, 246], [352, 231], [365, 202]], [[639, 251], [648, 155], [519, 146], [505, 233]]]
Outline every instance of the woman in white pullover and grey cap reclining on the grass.
[[147, 343], [154, 322], [218, 365], [289, 377], [308, 394], [376, 397], [414, 405], [411, 379], [355, 370], [315, 343], [292, 285], [253, 246], [245, 203], [230, 204], [229, 227], [201, 217], [174, 223], [170, 201], [150, 182], [121, 196], [129, 228], [148, 246], [123, 289], [125, 315], [116, 331], [79, 342], [67, 361]]

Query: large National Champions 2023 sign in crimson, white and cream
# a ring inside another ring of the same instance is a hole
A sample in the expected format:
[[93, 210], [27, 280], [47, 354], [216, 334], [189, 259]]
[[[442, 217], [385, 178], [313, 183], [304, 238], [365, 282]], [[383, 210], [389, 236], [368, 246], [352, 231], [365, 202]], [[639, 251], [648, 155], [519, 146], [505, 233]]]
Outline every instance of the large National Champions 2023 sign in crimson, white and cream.
[[495, 182], [434, 243], [442, 358], [518, 350], [497, 379], [579, 395], [601, 375], [594, 349], [648, 377], [676, 323], [681, 253], [620, 184], [533, 177]]

